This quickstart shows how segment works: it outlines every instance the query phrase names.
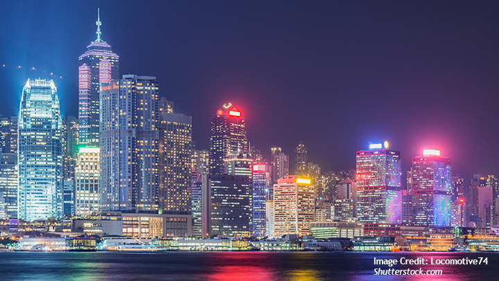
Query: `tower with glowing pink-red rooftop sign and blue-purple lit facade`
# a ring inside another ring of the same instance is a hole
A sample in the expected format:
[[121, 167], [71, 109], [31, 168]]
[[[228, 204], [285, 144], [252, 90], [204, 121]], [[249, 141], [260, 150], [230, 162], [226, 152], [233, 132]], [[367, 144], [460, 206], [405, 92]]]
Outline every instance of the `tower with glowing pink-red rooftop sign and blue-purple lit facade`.
[[427, 149], [412, 158], [413, 225], [450, 225], [450, 159]]

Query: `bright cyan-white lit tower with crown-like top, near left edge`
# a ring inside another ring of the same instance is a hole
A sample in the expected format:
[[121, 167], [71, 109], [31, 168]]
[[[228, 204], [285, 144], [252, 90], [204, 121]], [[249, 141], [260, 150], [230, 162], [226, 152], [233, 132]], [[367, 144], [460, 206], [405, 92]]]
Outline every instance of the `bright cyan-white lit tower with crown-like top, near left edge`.
[[62, 120], [53, 80], [28, 79], [19, 111], [19, 219], [60, 218]]

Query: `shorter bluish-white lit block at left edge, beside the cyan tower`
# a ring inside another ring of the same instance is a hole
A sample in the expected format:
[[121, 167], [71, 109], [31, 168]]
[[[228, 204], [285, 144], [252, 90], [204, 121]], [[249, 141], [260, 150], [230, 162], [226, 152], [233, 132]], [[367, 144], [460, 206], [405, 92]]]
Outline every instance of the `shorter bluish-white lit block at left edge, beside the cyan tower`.
[[6, 217], [17, 219], [17, 153], [0, 153], [0, 192]]

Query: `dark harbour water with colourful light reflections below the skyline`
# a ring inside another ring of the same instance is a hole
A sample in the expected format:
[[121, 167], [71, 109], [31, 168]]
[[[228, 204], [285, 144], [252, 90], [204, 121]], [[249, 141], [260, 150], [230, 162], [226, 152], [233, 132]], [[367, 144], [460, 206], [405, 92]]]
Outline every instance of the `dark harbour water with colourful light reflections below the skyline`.
[[[374, 275], [376, 259], [488, 257], [482, 265], [401, 265], [442, 275]], [[1, 280], [498, 280], [499, 253], [0, 253]]]

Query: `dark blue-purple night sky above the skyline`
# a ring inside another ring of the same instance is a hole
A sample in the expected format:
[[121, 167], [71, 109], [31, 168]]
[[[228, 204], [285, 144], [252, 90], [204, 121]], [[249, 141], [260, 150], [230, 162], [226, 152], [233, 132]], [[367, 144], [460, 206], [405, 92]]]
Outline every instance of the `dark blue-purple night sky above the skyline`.
[[354, 169], [356, 151], [388, 140], [404, 178], [423, 148], [466, 182], [499, 176], [499, 1], [2, 1], [4, 116], [50, 73], [77, 116], [97, 8], [120, 74], [157, 76], [197, 149], [230, 102], [267, 159], [281, 146], [293, 160], [303, 140], [322, 171]]

